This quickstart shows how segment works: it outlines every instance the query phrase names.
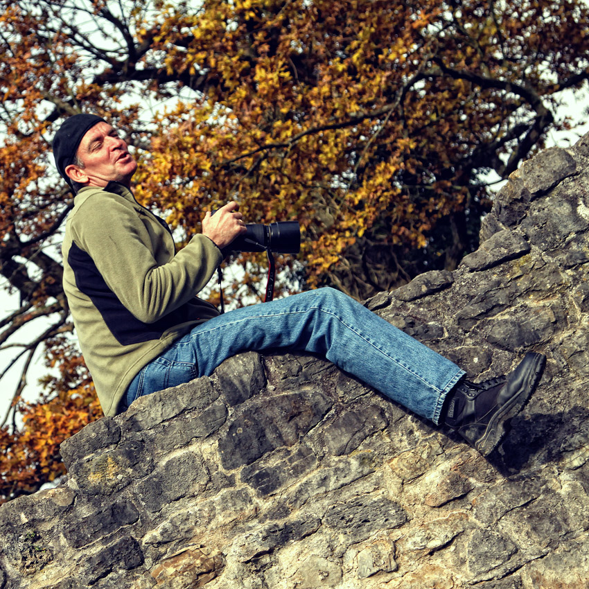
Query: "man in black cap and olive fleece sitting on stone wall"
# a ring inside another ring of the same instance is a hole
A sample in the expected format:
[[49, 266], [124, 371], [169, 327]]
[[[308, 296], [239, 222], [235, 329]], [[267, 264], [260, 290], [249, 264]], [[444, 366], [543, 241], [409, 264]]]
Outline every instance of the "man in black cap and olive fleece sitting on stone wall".
[[306, 351], [488, 455], [538, 385], [539, 353], [527, 353], [507, 376], [473, 384], [456, 364], [331, 288], [221, 315], [196, 294], [221, 250], [246, 231], [236, 202], [207, 212], [202, 234], [176, 252], [166, 223], [134, 199], [137, 163], [107, 121], [71, 116], [55, 134], [53, 155], [76, 193], [62, 248], [64, 291], [106, 415], [210, 375], [239, 352]]

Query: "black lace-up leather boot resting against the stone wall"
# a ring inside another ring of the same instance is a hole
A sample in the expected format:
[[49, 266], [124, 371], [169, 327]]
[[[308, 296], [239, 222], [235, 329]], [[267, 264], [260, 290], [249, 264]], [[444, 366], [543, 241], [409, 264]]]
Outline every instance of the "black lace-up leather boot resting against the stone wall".
[[545, 364], [545, 355], [530, 352], [507, 376], [477, 384], [461, 380], [446, 399], [444, 423], [489, 455], [504, 436], [506, 422], [538, 386]]

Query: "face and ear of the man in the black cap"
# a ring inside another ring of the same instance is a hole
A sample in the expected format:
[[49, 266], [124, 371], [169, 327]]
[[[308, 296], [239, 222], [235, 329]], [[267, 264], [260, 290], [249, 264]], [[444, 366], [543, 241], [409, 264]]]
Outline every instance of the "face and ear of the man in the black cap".
[[108, 123], [96, 123], [91, 127], [78, 147], [78, 159], [83, 168], [70, 164], [65, 171], [71, 179], [88, 186], [106, 186], [109, 182], [121, 182], [128, 188], [137, 170], [137, 162], [127, 150], [127, 143], [118, 137]]

